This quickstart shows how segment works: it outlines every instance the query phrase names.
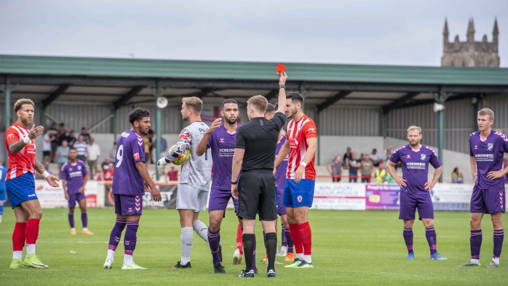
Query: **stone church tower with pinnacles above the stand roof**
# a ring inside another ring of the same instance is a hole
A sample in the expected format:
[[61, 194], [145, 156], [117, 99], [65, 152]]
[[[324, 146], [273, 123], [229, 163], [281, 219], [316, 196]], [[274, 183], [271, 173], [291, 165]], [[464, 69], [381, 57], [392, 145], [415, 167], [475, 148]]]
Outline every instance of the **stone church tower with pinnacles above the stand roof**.
[[448, 38], [448, 21], [444, 19], [441, 66], [499, 67], [499, 29], [497, 27], [497, 19], [494, 20], [492, 42], [487, 41], [487, 35], [483, 36], [481, 42], [475, 42], [474, 32], [474, 22], [471, 18], [467, 24], [466, 42], [460, 42], [459, 35], [457, 35], [454, 41], [450, 43]]

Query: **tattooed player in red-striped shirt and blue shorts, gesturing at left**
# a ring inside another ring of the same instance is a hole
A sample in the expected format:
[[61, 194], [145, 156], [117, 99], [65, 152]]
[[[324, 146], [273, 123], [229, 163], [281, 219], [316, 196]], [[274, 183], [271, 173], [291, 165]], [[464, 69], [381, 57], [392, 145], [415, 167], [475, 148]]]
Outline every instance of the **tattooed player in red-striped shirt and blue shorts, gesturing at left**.
[[[34, 124], [34, 102], [20, 99], [14, 104], [14, 112], [18, 119], [5, 133], [5, 145], [9, 154], [5, 184], [16, 217], [12, 234], [13, 255], [10, 268], [48, 268], [35, 254], [42, 209], [35, 193], [34, 174], [37, 171], [53, 187], [59, 186], [59, 180], [50, 175], [35, 156], [34, 139], [42, 134], [44, 128], [36, 127]], [[25, 241], [26, 257], [22, 261]]]

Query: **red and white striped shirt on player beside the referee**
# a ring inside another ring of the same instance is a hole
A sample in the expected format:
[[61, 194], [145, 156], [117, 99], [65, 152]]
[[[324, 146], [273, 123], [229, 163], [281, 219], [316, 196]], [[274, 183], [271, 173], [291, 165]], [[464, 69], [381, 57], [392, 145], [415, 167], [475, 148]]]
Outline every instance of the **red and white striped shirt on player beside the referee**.
[[[298, 122], [292, 119], [288, 123], [288, 136], [289, 141], [289, 160], [288, 160], [288, 179], [295, 179], [295, 171], [300, 166], [305, 152], [307, 152], [307, 139], [317, 138], [316, 125], [314, 121], [307, 115], [303, 115]], [[303, 172], [302, 179], [311, 179], [315, 181], [316, 171], [314, 169], [315, 154], [310, 160], [307, 167]]]

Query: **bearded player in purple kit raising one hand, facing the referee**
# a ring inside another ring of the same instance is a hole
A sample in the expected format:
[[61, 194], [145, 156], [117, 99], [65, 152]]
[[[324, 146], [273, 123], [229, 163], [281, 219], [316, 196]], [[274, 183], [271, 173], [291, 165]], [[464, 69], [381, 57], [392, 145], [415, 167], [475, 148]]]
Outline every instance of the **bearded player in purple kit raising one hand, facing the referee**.
[[[222, 119], [215, 119], [210, 128], [200, 140], [196, 148], [198, 156], [208, 152], [211, 148], [213, 161], [213, 177], [210, 197], [208, 201], [208, 215], [210, 224], [208, 226], [208, 243], [212, 251], [213, 270], [215, 273], [226, 273], [224, 266], [220, 263], [219, 242], [220, 242], [220, 224], [226, 216], [226, 207], [231, 196], [231, 166], [233, 165], [233, 154], [235, 153], [236, 131], [240, 127], [238, 119], [238, 103], [235, 100], [227, 99], [222, 104], [220, 114], [224, 117], [224, 124], [220, 124]], [[238, 200], [233, 198], [235, 211], [238, 211]], [[238, 218], [240, 225], [242, 220]], [[238, 249], [235, 250], [235, 255]], [[241, 255], [233, 257], [233, 264], [241, 263]]]

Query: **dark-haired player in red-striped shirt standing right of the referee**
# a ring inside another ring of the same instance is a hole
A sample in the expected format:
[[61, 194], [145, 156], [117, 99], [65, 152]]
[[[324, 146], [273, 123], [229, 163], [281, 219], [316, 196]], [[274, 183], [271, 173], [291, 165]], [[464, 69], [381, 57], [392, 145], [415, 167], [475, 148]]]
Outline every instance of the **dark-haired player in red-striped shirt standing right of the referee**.
[[284, 266], [290, 268], [313, 267], [308, 213], [314, 199], [317, 133], [314, 121], [303, 113], [302, 106], [300, 93], [289, 92], [286, 95], [285, 115], [292, 120], [288, 123], [288, 137], [275, 160], [276, 168], [289, 153], [282, 205], [286, 207], [289, 232], [296, 252], [294, 262]]

